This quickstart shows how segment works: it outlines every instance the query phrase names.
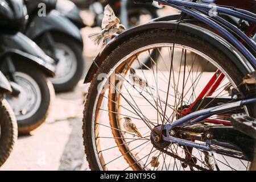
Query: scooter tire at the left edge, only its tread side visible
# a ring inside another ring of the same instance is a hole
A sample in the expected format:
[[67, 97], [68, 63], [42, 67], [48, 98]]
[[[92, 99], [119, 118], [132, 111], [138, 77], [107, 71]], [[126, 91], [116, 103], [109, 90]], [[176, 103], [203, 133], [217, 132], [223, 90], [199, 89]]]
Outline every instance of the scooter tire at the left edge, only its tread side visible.
[[13, 150], [18, 135], [18, 127], [11, 106], [5, 99], [0, 101], [0, 167]]

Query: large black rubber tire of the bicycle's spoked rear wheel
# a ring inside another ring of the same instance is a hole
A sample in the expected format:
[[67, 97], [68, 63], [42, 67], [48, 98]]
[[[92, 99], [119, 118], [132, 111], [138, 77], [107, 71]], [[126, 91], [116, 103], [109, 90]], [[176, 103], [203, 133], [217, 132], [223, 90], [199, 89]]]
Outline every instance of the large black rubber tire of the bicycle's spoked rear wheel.
[[[112, 53], [110, 53], [110, 55], [101, 64], [101, 71], [104, 73], [108, 73], [110, 69], [112, 69], [119, 60], [121, 60], [123, 57], [125, 57], [129, 53], [137, 50], [138, 48], [141, 48], [143, 46], [147, 46], [150, 44], [156, 44], [156, 43], [173, 43], [174, 37], [175, 37], [174, 30], [171, 31], [166, 29], [151, 30], [151, 31], [143, 32], [142, 34], [139, 34], [137, 36], [134, 36], [133, 38], [122, 43], [114, 51], [112, 51]], [[205, 55], [212, 57], [213, 60], [218, 61], [218, 64], [228, 73], [228, 75], [233, 79], [233, 81], [237, 85], [240, 84], [240, 82], [242, 81], [242, 77], [247, 74], [246, 72], [241, 72], [241, 69], [236, 67], [236, 65], [233, 64], [232, 60], [230, 60], [228, 56], [225, 55], [224, 50], [219, 49], [218, 47], [213, 46], [213, 44], [207, 42], [206, 40], [201, 39], [200, 34], [195, 35], [192, 33], [189, 34], [186, 31], [177, 31], [176, 43], [197, 49], [205, 53]], [[220, 44], [218, 42], [216, 43], [217, 43], [216, 45]], [[92, 129], [94, 126], [92, 126], [91, 121], [93, 117], [94, 102], [96, 102], [96, 97], [97, 97], [97, 92], [96, 92], [97, 86], [101, 82], [101, 80], [97, 80], [97, 77], [98, 77], [98, 74], [101, 73], [101, 71], [98, 70], [97, 73], [94, 75], [90, 88], [88, 90], [88, 94], [86, 96], [83, 126], [82, 126], [85, 154], [89, 163], [89, 167], [92, 170], [100, 169], [98, 167], [97, 159], [93, 151], [94, 138], [92, 137]], [[112, 109], [113, 108], [109, 107], [109, 110], [112, 110]], [[256, 113], [255, 113], [256, 104], [251, 104], [250, 106], [247, 107], [247, 109], [249, 109], [249, 114], [251, 115], [251, 117], [256, 116]], [[111, 112], [109, 112], [109, 114], [111, 114]], [[112, 119], [110, 118], [110, 122], [114, 122], [112, 121]], [[131, 161], [130, 163], [133, 164], [134, 161]], [[135, 167], [135, 168], [138, 168], [138, 167]]]

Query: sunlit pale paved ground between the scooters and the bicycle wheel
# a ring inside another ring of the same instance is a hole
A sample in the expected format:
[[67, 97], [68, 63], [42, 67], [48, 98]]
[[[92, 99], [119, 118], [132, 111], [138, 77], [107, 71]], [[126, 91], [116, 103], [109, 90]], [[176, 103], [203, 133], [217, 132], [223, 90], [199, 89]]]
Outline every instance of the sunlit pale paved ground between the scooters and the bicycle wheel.
[[[82, 16], [88, 24], [92, 23], [92, 14], [82, 11]], [[100, 28], [90, 27], [82, 29], [85, 73], [99, 51], [87, 36], [88, 33], [99, 30]], [[0, 170], [88, 169], [81, 130], [83, 103], [88, 85], [82, 84], [82, 81], [73, 92], [56, 95], [47, 121], [30, 135], [18, 138], [10, 158]]]

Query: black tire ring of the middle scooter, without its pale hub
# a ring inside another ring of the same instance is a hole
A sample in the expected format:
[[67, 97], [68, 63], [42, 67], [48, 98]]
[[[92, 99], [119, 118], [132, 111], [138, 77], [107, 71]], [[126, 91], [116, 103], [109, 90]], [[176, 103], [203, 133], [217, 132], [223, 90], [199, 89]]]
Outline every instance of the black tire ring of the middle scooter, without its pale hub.
[[51, 109], [51, 102], [55, 98], [55, 91], [52, 83], [47, 80], [46, 75], [44, 75], [37, 65], [15, 60], [14, 66], [17, 72], [25, 73], [34, 79], [40, 88], [42, 96], [39, 109], [34, 115], [23, 120], [17, 119], [19, 134], [28, 134], [46, 121], [49, 110]]

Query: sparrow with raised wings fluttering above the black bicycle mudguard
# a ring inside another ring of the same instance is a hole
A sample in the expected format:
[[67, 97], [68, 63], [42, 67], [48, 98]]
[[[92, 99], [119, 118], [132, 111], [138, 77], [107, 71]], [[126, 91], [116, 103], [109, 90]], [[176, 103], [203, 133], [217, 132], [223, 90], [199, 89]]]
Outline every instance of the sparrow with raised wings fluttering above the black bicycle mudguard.
[[120, 20], [115, 16], [113, 9], [106, 5], [104, 8], [104, 17], [101, 23], [102, 31], [96, 34], [89, 34], [88, 37], [98, 46], [105, 45], [106, 38], [112, 36], [118, 31], [126, 30], [125, 26], [120, 24]]

